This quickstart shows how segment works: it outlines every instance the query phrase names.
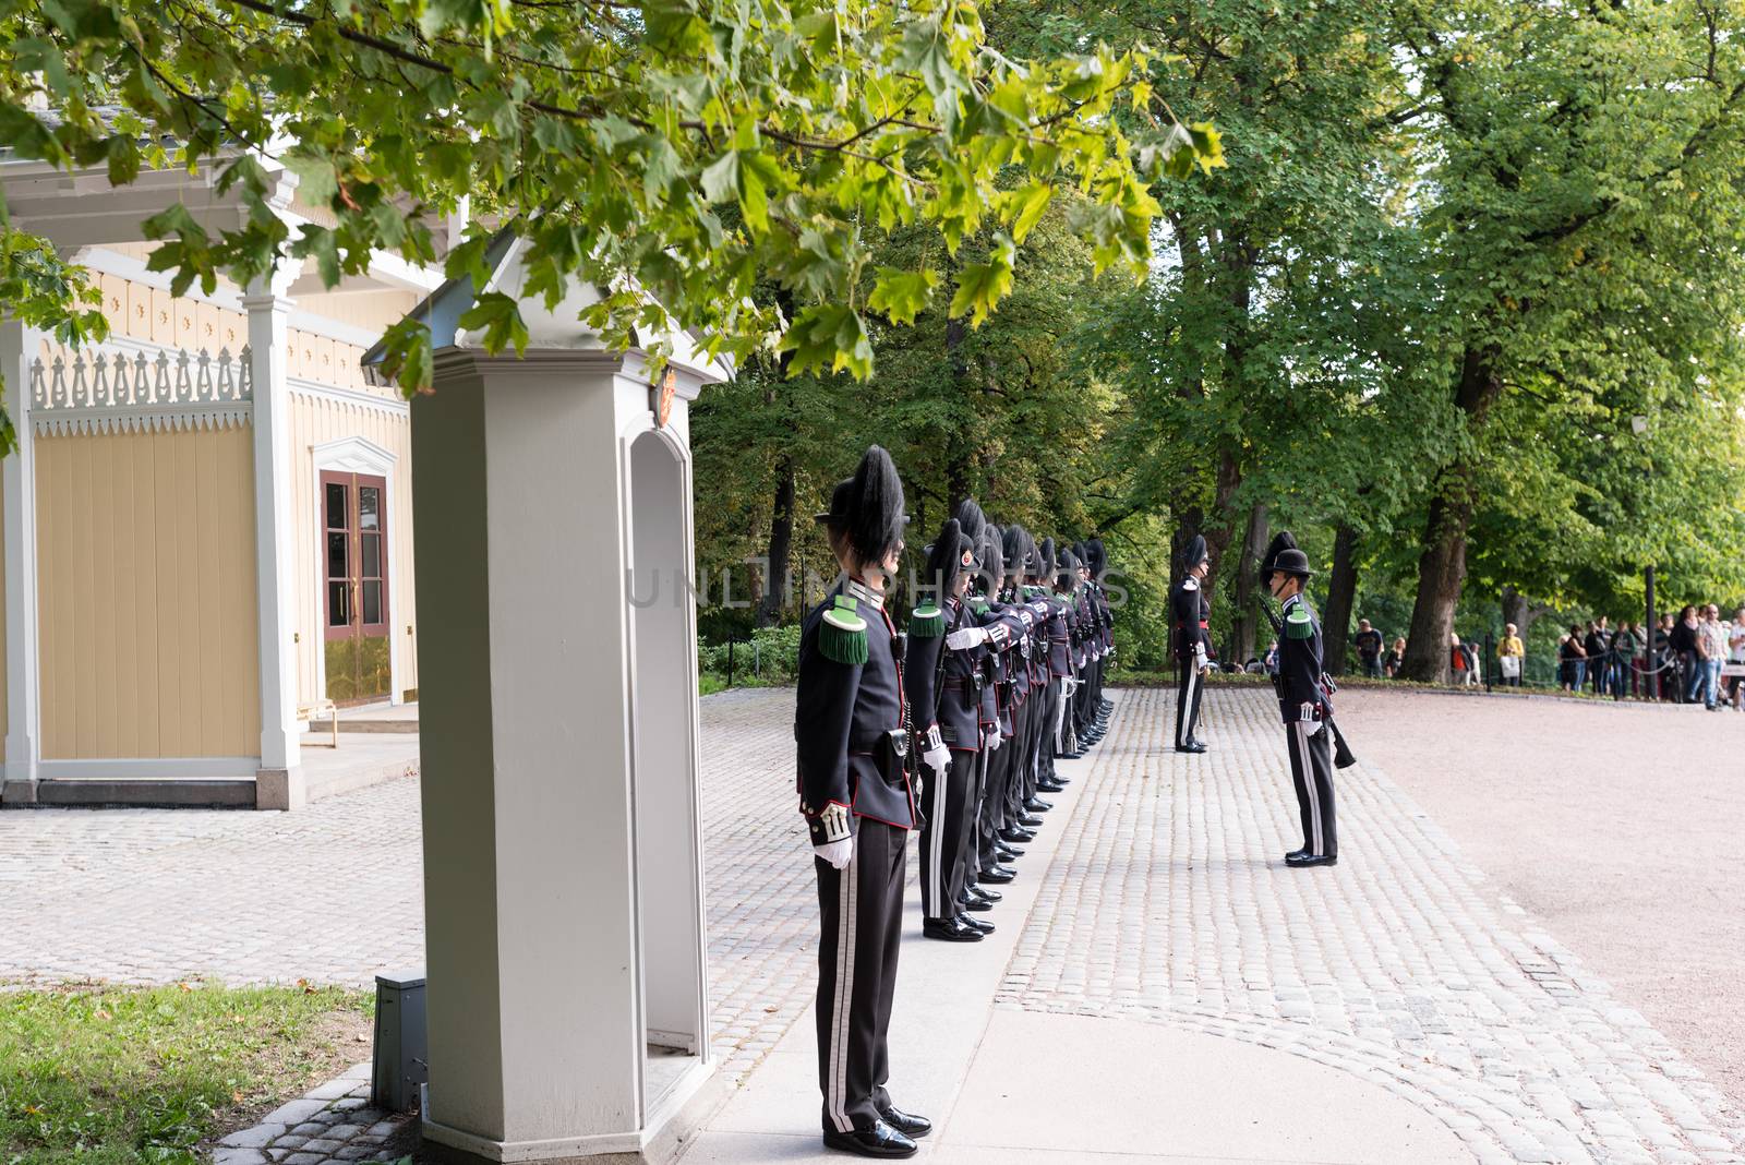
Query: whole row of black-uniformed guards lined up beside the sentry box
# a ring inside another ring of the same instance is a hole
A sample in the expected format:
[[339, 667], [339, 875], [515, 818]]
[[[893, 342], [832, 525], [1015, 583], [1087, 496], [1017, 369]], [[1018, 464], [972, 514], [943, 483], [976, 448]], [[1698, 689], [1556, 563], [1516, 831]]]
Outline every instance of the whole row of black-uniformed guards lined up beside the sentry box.
[[794, 741], [818, 879], [824, 1142], [911, 1156], [932, 1130], [888, 1090], [904, 863], [920, 830], [923, 933], [979, 942], [1010, 862], [1108, 726], [1115, 651], [1092, 539], [1056, 549], [974, 501], [927, 548], [934, 596], [900, 633], [886, 607], [904, 549], [902, 481], [872, 446], [817, 514], [841, 582], [801, 624]]

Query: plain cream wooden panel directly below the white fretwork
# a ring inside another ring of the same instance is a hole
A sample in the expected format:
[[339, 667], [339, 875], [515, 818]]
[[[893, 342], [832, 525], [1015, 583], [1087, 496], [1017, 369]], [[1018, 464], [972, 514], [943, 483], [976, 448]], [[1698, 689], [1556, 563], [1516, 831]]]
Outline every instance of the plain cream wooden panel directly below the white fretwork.
[[38, 438], [42, 755], [260, 753], [253, 431]]

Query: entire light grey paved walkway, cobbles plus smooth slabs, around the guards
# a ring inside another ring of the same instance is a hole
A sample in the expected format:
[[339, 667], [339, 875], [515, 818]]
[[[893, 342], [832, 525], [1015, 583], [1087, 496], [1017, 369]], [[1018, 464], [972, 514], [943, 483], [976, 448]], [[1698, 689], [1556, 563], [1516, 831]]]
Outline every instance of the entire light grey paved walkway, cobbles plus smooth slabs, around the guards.
[[[1745, 1162], [1740, 1114], [1384, 773], [1340, 774], [1337, 869], [1284, 870], [1267, 694], [1208, 694], [1206, 757], [1167, 750], [1171, 703], [1120, 696], [993, 940], [906, 944], [893, 1085], [944, 1121], [930, 1156]], [[790, 710], [703, 703], [717, 1053], [743, 1087], [688, 1165], [817, 1149]], [[415, 794], [0, 813], [0, 980], [361, 985], [415, 964]]]

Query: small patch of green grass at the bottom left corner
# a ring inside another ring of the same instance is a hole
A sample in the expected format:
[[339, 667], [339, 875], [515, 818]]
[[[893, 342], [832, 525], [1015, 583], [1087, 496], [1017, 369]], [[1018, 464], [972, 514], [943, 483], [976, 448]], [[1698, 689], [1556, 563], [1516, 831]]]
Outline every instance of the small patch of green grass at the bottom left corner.
[[0, 1165], [195, 1165], [370, 1057], [375, 999], [298, 987], [0, 987]]

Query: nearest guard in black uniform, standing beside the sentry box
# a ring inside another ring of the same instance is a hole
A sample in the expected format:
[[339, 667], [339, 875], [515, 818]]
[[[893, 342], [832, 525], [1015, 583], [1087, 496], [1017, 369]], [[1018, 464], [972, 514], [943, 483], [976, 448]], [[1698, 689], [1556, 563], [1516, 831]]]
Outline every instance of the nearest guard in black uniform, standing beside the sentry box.
[[932, 1123], [885, 1081], [902, 877], [916, 825], [902, 649], [885, 589], [902, 553], [902, 481], [872, 446], [818, 514], [843, 579], [806, 616], [794, 713], [799, 797], [818, 875], [818, 1087], [824, 1144], [911, 1156]]

